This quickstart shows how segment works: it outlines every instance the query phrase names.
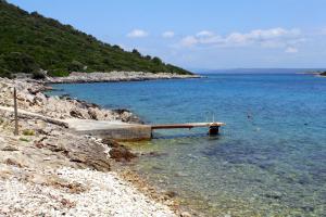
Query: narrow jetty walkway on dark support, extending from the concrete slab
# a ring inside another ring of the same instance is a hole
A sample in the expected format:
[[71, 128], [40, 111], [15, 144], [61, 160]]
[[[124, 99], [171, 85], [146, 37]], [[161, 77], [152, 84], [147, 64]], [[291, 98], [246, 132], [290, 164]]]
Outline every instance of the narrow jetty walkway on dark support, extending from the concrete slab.
[[218, 135], [220, 127], [225, 126], [224, 123], [188, 123], [188, 124], [170, 124], [170, 125], [151, 125], [151, 129], [191, 129], [195, 127], [209, 127], [209, 135]]

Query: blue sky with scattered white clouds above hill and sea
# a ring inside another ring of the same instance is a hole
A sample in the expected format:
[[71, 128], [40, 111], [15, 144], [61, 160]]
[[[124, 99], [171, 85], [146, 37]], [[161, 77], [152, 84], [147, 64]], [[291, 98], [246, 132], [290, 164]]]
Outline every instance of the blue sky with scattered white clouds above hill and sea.
[[326, 0], [9, 2], [188, 69], [326, 67]]

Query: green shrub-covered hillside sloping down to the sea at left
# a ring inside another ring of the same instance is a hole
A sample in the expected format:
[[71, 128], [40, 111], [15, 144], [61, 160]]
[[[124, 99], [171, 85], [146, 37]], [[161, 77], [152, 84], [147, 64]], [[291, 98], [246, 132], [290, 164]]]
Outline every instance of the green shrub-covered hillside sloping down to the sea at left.
[[0, 77], [27, 73], [40, 78], [40, 68], [51, 76], [112, 71], [190, 74], [159, 58], [142, 56], [136, 49], [127, 52], [101, 42], [71, 25], [28, 13], [4, 0], [0, 0]]

